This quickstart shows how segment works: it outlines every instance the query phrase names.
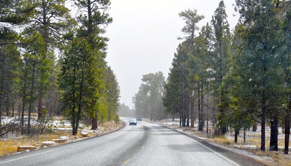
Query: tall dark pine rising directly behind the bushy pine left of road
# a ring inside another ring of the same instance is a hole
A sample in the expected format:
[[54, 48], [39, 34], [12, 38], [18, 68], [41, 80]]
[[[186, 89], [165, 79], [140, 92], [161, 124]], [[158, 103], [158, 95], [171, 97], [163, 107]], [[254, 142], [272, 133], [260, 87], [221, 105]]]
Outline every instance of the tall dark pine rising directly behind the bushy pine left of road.
[[[104, 26], [112, 22], [109, 17], [110, 0], [74, 0], [74, 5], [78, 8], [77, 22], [82, 26], [79, 29], [80, 38], [85, 38], [95, 51], [104, 52], [106, 50], [106, 42], [108, 38], [102, 37], [100, 34], [105, 33]], [[103, 13], [102, 13], [103, 12]], [[103, 27], [102, 27], [103, 26]], [[100, 54], [101, 61], [104, 60], [106, 53]], [[105, 61], [104, 61], [105, 62]], [[102, 68], [104, 66], [96, 66]], [[95, 102], [95, 101], [92, 101]], [[92, 129], [97, 129], [97, 117], [92, 117]]]

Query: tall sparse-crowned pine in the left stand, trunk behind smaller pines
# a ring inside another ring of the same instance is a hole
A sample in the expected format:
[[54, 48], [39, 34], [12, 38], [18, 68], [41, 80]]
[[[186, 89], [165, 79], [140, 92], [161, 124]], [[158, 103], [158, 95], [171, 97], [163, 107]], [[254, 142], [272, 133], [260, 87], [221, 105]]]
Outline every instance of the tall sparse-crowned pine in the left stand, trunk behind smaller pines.
[[[55, 48], [61, 47], [62, 36], [74, 25], [74, 20], [69, 14], [69, 9], [65, 7], [65, 0], [36, 0], [35, 13], [29, 19], [29, 26], [25, 28], [25, 35], [38, 32], [42, 36], [45, 44], [44, 49], [48, 55], [53, 54]], [[42, 72], [47, 72], [42, 70]], [[42, 116], [44, 108], [44, 96], [48, 90], [47, 78], [41, 78], [44, 84], [39, 85], [38, 100], [38, 120]], [[45, 81], [46, 80], [46, 81]]]

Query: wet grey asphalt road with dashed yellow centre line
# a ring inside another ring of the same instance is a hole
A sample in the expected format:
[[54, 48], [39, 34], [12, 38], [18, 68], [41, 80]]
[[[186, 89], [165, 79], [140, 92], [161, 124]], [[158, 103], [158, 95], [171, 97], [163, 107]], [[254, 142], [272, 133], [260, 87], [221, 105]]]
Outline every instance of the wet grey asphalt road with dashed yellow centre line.
[[257, 166], [251, 160], [158, 124], [138, 122], [79, 142], [0, 157], [2, 166]]

